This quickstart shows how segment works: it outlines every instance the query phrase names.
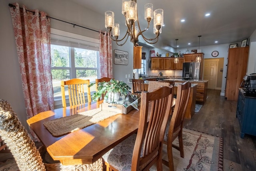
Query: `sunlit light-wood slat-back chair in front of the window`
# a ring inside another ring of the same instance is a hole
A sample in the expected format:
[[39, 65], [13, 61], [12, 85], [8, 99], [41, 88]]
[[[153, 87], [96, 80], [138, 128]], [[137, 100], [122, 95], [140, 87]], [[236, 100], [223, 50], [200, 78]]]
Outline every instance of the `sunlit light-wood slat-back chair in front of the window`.
[[[68, 85], [65, 87], [65, 85]], [[62, 98], [62, 106], [67, 107], [65, 91], [68, 90], [68, 98], [70, 106], [72, 105], [80, 105], [86, 103], [85, 94], [87, 92], [87, 101], [88, 103], [92, 101], [91, 92], [90, 92], [90, 80], [82, 80], [78, 78], [74, 78], [67, 81], [60, 82], [61, 89], [61, 98]], [[85, 91], [86, 89], [86, 91]]]

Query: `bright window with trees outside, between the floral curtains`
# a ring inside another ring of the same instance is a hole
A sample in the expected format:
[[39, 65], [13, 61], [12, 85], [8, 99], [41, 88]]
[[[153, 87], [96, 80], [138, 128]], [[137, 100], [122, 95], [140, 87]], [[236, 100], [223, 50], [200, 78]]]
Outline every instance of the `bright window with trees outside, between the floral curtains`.
[[[99, 48], [86, 41], [51, 34], [51, 59], [55, 100], [61, 98], [61, 80], [80, 78], [93, 83], [98, 76]], [[90, 91], [95, 91], [95, 85]]]

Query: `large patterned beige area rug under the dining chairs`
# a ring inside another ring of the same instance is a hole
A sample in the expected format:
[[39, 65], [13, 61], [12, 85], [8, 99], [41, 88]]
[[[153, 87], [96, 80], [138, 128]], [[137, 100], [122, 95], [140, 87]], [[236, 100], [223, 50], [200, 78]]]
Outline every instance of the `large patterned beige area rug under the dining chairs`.
[[[223, 139], [214, 135], [183, 128], [184, 158], [172, 148], [175, 171], [223, 171]], [[178, 139], [173, 144], [178, 145]], [[163, 158], [168, 161], [166, 145]], [[150, 169], [154, 171], [156, 168]], [[163, 170], [169, 168], [164, 167]]]

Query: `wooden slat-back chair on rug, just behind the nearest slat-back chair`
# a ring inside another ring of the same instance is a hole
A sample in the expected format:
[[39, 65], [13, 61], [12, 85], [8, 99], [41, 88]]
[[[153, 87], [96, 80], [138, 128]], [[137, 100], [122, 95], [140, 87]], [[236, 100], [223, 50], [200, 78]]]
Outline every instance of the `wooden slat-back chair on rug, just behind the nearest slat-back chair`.
[[[174, 171], [172, 147], [180, 151], [180, 157], [184, 158], [182, 128], [185, 111], [188, 105], [190, 94], [190, 82], [185, 82], [178, 85], [176, 104], [174, 112], [168, 118], [166, 131], [164, 135], [164, 143], [167, 144], [168, 161], [163, 159], [163, 164], [168, 166], [170, 171]], [[179, 146], [173, 145], [172, 142], [178, 137]]]

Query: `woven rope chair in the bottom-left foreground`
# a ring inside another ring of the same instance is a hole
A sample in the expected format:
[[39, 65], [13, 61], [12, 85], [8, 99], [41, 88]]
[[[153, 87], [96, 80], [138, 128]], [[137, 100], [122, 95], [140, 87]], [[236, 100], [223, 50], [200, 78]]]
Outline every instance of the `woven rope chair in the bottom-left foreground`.
[[92, 164], [62, 165], [60, 161], [54, 161], [50, 157], [45, 147], [37, 149], [10, 103], [3, 99], [0, 99], [0, 136], [10, 149], [21, 171], [103, 170], [102, 158]]

